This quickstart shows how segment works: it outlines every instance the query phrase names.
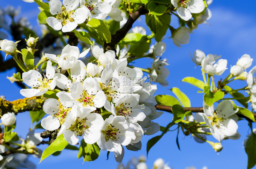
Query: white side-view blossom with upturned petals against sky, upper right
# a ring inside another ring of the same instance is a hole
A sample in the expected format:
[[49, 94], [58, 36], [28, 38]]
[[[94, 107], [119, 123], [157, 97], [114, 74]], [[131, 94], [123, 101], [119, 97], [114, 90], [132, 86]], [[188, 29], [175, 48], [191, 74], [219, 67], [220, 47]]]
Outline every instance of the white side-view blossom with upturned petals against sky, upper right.
[[220, 59], [214, 65], [214, 55], [209, 54], [203, 58], [201, 66], [207, 74], [221, 75], [227, 69], [227, 60]]

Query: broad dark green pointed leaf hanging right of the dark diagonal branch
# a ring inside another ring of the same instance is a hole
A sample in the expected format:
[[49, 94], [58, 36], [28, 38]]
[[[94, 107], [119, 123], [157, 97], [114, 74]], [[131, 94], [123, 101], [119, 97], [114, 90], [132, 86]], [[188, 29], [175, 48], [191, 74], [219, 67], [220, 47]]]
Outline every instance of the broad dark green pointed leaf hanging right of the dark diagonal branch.
[[146, 15], [146, 24], [149, 26], [150, 31], [155, 34], [154, 38], [157, 42], [160, 42], [166, 34], [170, 22], [170, 15]]

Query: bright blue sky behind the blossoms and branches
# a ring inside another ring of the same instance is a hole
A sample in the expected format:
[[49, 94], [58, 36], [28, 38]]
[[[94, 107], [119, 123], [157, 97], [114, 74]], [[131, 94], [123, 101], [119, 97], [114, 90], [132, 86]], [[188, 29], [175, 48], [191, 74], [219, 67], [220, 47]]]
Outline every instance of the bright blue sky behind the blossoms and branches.
[[[21, 6], [21, 15], [26, 16], [29, 14], [29, 21], [32, 25], [36, 25], [37, 18], [37, 5], [35, 3], [25, 3], [21, 0], [12, 0], [11, 5], [15, 7]], [[0, 6], [5, 7], [10, 4], [10, 1], [0, 1]], [[242, 5], [242, 6], [241, 6]], [[221, 76], [216, 76], [216, 80], [220, 78], [224, 79], [230, 70], [230, 65], [235, 65], [238, 58], [243, 54], [249, 54], [254, 58], [253, 65], [248, 68], [250, 70], [256, 63], [256, 12], [253, 9], [251, 1], [213, 1], [209, 9], [212, 11], [212, 18], [208, 21], [208, 25], [201, 24], [198, 29], [194, 30], [191, 34], [190, 43], [182, 45], [181, 48], [176, 47], [170, 37], [170, 33], [166, 34], [164, 42], [167, 44], [166, 52], [163, 54], [163, 58], [168, 58], [167, 66], [170, 75], [168, 77], [168, 87], [161, 87], [159, 84], [156, 95], [168, 94], [173, 95], [169, 90], [172, 87], [178, 87], [190, 98], [191, 106], [201, 107], [203, 102], [202, 94], [197, 93], [198, 89], [181, 80], [186, 76], [194, 76], [202, 80], [202, 75], [199, 66], [195, 68], [195, 64], [191, 61], [189, 52], [193, 53], [194, 50], [200, 49], [205, 54], [217, 54], [222, 55], [222, 59], [228, 60], [228, 70]], [[145, 25], [144, 17], [141, 20], [136, 21], [135, 26]], [[171, 20], [171, 25], [177, 28], [177, 20]], [[147, 30], [147, 34], [150, 34]], [[146, 65], [143, 67], [150, 67], [152, 60], [146, 60]], [[139, 64], [138, 64], [139, 65]], [[141, 65], [140, 65], [141, 66]], [[142, 67], [142, 66], [141, 66]], [[2, 79], [0, 95], [6, 96], [7, 100], [12, 101], [15, 99], [23, 98], [20, 95], [19, 90], [15, 84], [11, 84], [6, 76], [12, 76], [15, 70], [10, 70], [5, 73], [0, 73]], [[246, 86], [246, 82], [239, 82], [239, 88]], [[231, 85], [234, 88], [238, 88], [236, 84]], [[29, 113], [24, 112], [18, 114], [17, 131], [21, 133], [22, 137], [26, 136], [30, 127]], [[22, 119], [22, 120], [21, 120]], [[172, 115], [164, 113], [161, 117], [154, 120], [161, 126], [166, 126], [171, 122]], [[22, 122], [21, 122], [22, 121]], [[255, 125], [254, 125], [255, 126]], [[249, 127], [245, 120], [238, 122], [238, 132], [241, 134], [239, 140], [224, 140], [222, 146], [224, 149], [219, 152], [219, 155], [214, 152], [212, 147], [207, 144], [199, 144], [193, 140], [191, 136], [185, 136], [182, 132], [179, 133], [179, 145], [181, 151], [176, 145], [177, 132], [169, 132], [160, 139], [160, 141], [152, 147], [149, 151], [147, 164], [149, 168], [152, 167], [153, 162], [161, 157], [169, 166], [175, 169], [186, 168], [188, 166], [195, 166], [196, 168], [202, 168], [207, 166], [208, 169], [212, 168], [246, 168], [247, 155], [243, 149], [242, 142], [249, 134]], [[40, 132], [40, 131], [38, 131]], [[147, 141], [160, 135], [158, 132], [155, 135], [143, 136], [142, 149], [138, 152], [132, 152], [125, 150], [125, 156], [123, 162], [126, 164], [132, 156], [139, 157], [141, 154], [146, 155], [146, 143]], [[208, 137], [210, 141], [217, 142], [213, 137]], [[40, 149], [46, 148], [46, 146], [40, 146]], [[99, 158], [93, 162], [85, 162], [82, 164], [82, 159], [77, 160], [77, 151], [64, 150], [59, 156], [50, 156], [43, 160], [37, 168], [116, 168], [117, 163], [114, 159], [114, 154], [110, 153], [109, 160], [106, 160], [107, 152], [101, 151]], [[31, 161], [38, 164], [39, 159], [29, 157]], [[256, 167], [254, 167], [256, 168]]]

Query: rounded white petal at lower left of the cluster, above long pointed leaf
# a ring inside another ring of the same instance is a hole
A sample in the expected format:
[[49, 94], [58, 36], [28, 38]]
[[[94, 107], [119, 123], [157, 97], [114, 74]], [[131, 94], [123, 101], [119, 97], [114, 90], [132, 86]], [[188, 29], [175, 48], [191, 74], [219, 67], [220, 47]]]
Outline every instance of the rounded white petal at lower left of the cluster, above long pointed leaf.
[[53, 131], [60, 127], [60, 121], [56, 117], [50, 115], [42, 119], [41, 126], [46, 130]]

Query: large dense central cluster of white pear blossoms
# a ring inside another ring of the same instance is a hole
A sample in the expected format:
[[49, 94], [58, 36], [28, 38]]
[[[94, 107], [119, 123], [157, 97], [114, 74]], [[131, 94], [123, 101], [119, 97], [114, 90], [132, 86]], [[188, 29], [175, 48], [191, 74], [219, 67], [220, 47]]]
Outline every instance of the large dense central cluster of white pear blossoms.
[[[156, 85], [151, 85], [139, 68], [129, 68], [127, 59], [116, 59], [114, 51], [103, 52], [99, 46], [92, 46], [97, 64], [87, 66], [79, 58], [78, 47], [67, 45], [60, 55], [45, 54], [58, 68], [69, 72], [69, 78], [55, 73], [52, 62], [47, 62], [43, 76], [36, 70], [22, 74], [23, 81], [32, 89], [22, 89], [25, 97], [39, 96], [52, 90], [58, 99], [49, 98], [43, 111], [49, 114], [42, 119], [46, 130], [63, 134], [69, 144], [75, 145], [82, 136], [87, 144], [97, 143], [102, 150], [115, 153], [117, 162], [127, 149], [141, 148], [143, 134], [151, 135], [160, 130], [153, 119], [163, 112], [157, 112], [157, 103], [152, 96]], [[56, 90], [55, 87], [60, 90]]]

